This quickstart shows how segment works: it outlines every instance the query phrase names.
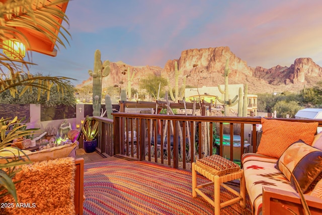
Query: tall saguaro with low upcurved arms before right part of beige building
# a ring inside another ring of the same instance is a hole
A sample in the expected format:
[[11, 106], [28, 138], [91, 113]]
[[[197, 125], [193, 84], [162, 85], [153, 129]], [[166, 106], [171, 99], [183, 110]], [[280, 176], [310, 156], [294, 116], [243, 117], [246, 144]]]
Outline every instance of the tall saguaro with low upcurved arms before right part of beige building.
[[225, 77], [225, 90], [222, 90], [220, 88], [220, 85], [218, 85], [218, 90], [220, 91], [221, 94], [224, 95], [224, 100], [220, 99], [218, 96], [216, 96], [216, 99], [223, 104], [224, 106], [224, 115], [228, 116], [229, 114], [229, 107], [234, 106], [237, 104], [238, 100], [238, 95], [236, 95], [233, 99], [229, 99], [229, 88], [228, 88], [228, 75], [230, 73], [230, 68], [229, 68], [229, 59], [226, 59], [226, 65], [225, 65], [225, 70], [223, 77]]

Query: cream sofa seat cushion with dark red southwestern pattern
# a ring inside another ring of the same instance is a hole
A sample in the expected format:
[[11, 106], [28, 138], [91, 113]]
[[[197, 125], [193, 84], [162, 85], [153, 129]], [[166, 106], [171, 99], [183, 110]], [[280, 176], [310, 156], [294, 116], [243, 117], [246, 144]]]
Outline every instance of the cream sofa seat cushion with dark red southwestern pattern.
[[263, 187], [272, 187], [295, 192], [284, 174], [275, 168], [276, 158], [246, 153], [242, 157], [247, 192], [252, 202], [254, 213], [262, 213]]

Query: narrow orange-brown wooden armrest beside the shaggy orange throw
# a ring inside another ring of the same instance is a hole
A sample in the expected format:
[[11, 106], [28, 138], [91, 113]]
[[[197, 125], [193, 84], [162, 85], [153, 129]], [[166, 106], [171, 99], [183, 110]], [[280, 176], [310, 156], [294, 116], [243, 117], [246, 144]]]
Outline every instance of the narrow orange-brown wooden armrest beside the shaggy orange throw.
[[76, 172], [75, 172], [75, 214], [83, 214], [84, 202], [84, 159], [75, 159]]

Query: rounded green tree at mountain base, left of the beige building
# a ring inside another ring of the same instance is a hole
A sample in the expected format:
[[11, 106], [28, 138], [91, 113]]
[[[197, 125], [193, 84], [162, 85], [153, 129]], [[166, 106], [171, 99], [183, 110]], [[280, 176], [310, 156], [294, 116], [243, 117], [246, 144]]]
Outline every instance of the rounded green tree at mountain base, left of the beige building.
[[156, 99], [157, 92], [160, 84], [160, 93], [159, 98], [163, 98], [165, 96], [165, 87], [168, 85], [167, 79], [162, 78], [160, 76], [150, 75], [145, 79], [141, 79], [140, 88], [145, 89], [148, 94]]

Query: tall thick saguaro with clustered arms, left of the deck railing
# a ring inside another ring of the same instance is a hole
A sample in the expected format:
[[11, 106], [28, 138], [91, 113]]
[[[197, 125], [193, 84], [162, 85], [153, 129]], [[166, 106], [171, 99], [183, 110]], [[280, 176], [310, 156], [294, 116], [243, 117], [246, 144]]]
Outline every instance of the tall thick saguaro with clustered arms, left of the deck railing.
[[101, 116], [102, 80], [110, 75], [110, 61], [102, 63], [101, 51], [97, 49], [94, 54], [94, 70], [89, 70], [93, 77], [93, 116]]

